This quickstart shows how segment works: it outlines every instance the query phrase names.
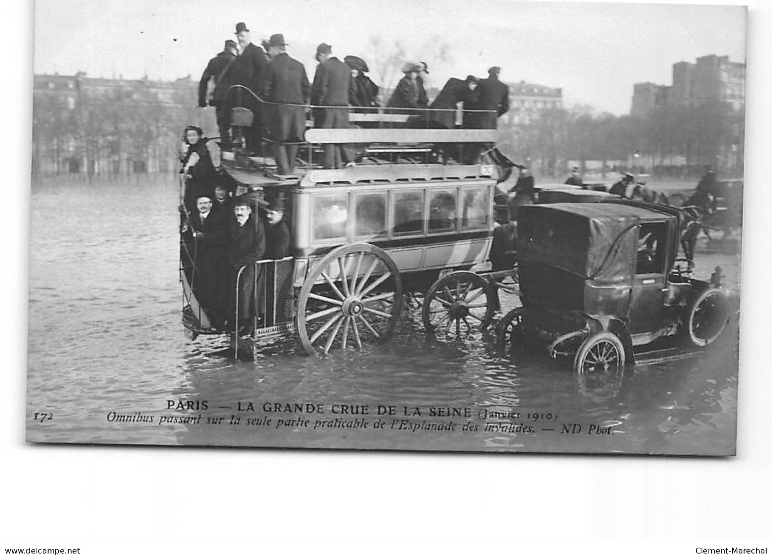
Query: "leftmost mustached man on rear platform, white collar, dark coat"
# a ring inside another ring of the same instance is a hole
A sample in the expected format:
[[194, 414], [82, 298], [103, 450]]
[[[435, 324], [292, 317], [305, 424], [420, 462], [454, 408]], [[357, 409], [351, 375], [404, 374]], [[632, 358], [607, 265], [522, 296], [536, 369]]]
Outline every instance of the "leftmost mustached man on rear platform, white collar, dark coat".
[[227, 281], [223, 276], [225, 262], [225, 225], [227, 215], [212, 209], [212, 198], [199, 195], [196, 213], [191, 215], [191, 235], [194, 239], [191, 256], [194, 273], [189, 278], [201, 308], [215, 328], [222, 328], [225, 321], [225, 293]]

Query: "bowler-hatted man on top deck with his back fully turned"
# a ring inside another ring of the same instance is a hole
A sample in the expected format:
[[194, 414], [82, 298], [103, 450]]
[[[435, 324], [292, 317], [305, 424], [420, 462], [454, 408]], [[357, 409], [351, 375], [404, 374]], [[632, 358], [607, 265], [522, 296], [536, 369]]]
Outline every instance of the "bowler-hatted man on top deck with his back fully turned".
[[268, 127], [271, 140], [276, 144], [276, 165], [280, 175], [295, 171], [297, 147], [306, 132], [306, 107], [311, 83], [306, 68], [286, 53], [282, 34], [271, 36], [268, 53], [271, 61], [266, 66], [262, 97], [269, 106]]

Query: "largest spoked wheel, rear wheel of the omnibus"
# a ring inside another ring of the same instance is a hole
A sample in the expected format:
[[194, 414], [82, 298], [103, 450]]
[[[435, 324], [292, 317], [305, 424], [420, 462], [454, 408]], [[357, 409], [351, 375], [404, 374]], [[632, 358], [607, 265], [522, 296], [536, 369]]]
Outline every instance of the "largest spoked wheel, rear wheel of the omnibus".
[[314, 266], [298, 293], [300, 343], [316, 355], [388, 340], [401, 308], [402, 282], [388, 254], [367, 243], [342, 246]]

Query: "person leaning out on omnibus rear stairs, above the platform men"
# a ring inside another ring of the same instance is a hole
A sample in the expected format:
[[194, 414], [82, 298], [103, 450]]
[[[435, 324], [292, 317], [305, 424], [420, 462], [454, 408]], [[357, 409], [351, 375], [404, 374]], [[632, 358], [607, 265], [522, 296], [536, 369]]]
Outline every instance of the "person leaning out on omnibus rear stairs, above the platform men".
[[195, 127], [195, 125], [185, 127], [183, 150], [180, 153], [182, 166], [180, 205], [188, 214], [195, 212], [195, 199], [198, 195], [211, 195], [217, 178], [206, 141], [201, 127]]

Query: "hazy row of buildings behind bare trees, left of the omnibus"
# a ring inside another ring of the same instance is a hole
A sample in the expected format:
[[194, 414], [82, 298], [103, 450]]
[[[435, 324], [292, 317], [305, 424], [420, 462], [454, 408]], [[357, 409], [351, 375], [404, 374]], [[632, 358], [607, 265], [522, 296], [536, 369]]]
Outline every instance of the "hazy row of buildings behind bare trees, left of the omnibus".
[[201, 125], [198, 83], [36, 75], [32, 171], [131, 175], [174, 171], [181, 130]]

